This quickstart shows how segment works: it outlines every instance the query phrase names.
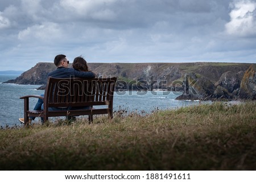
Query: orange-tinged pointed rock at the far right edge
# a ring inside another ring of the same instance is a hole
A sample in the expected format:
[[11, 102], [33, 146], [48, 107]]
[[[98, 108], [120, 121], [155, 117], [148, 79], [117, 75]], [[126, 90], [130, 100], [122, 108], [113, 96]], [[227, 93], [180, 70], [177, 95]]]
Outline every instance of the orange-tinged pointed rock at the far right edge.
[[238, 93], [240, 98], [256, 99], [256, 66], [250, 65], [249, 69], [243, 75], [240, 90]]

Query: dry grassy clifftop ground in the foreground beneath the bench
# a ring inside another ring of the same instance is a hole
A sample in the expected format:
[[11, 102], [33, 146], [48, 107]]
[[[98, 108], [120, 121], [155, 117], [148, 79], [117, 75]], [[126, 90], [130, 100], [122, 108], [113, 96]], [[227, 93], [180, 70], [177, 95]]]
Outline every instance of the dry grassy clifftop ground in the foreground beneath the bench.
[[255, 170], [256, 102], [0, 130], [1, 170]]

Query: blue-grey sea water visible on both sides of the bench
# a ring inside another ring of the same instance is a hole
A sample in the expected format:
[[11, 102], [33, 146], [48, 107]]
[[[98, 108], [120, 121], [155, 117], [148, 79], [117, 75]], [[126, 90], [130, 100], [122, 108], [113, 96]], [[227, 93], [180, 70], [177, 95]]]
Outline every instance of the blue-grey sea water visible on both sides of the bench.
[[[23, 118], [24, 101], [20, 99], [26, 95], [44, 94], [44, 90], [37, 90], [41, 85], [5, 84], [3, 82], [14, 79], [19, 75], [0, 75], [0, 126], [11, 127], [21, 125], [18, 118]], [[125, 111], [126, 114], [147, 114], [156, 110], [170, 110], [179, 107], [199, 105], [199, 101], [175, 100], [181, 92], [167, 92], [162, 90], [137, 92], [122, 90], [114, 93], [114, 111]], [[30, 99], [32, 110], [37, 98]]]

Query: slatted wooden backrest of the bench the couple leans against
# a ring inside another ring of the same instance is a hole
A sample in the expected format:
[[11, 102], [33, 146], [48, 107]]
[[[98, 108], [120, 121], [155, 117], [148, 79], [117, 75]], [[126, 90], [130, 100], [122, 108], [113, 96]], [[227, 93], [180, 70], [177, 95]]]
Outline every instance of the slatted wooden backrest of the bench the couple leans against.
[[48, 77], [44, 103], [47, 107], [109, 105], [117, 78]]

